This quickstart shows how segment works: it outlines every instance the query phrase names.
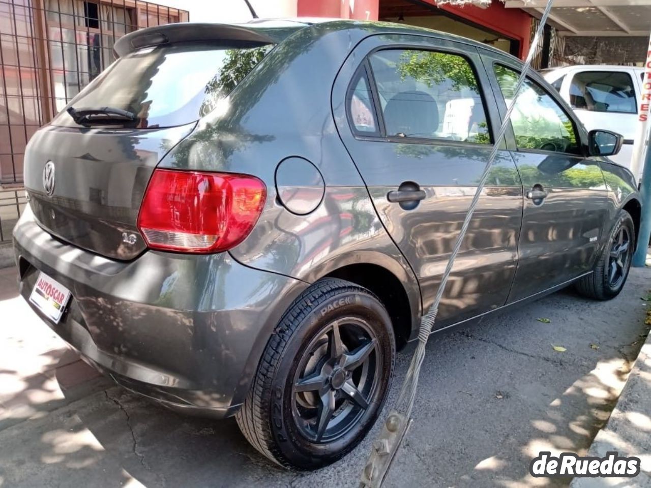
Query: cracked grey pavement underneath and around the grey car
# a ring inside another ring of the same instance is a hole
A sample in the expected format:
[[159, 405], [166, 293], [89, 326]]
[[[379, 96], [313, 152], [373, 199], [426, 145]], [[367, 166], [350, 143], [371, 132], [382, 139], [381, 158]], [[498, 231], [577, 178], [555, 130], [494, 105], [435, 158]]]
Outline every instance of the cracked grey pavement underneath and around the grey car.
[[[1, 488], [357, 486], [377, 426], [331, 467], [284, 471], [233, 419], [171, 413], [98, 375], [23, 303], [13, 273], [0, 269]], [[640, 297], [650, 278], [633, 269], [614, 301], [561, 291], [432, 337], [386, 486], [567, 485], [531, 478], [529, 461], [541, 450], [585, 455], [648, 330]], [[387, 405], [411, 352], [398, 354]]]

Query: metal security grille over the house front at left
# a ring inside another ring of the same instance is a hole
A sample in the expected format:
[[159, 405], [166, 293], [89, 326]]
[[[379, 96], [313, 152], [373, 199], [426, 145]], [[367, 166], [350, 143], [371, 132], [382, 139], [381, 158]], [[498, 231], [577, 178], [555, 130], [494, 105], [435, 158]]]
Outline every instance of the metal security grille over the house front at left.
[[27, 141], [113, 62], [116, 40], [188, 20], [141, 0], [0, 0], [0, 185], [22, 182]]

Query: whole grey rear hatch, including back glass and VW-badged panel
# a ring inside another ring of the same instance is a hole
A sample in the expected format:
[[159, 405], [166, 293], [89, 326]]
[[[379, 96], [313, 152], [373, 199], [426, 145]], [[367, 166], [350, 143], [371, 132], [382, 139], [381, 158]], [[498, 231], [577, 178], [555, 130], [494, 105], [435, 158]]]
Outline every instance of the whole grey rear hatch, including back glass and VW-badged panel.
[[126, 49], [29, 142], [25, 187], [53, 236], [119, 260], [143, 252], [136, 223], [156, 165], [274, 45], [242, 29], [236, 40], [187, 40], [188, 29], [123, 38], [159, 44]]

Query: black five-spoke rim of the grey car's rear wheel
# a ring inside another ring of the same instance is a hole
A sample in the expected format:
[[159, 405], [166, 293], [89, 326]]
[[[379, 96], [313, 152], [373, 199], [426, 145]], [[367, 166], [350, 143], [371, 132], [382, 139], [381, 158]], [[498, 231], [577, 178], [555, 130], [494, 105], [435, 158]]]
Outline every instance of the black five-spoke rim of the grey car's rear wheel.
[[378, 339], [361, 318], [329, 323], [311, 341], [292, 383], [292, 416], [309, 441], [340, 439], [367, 413], [382, 368]]

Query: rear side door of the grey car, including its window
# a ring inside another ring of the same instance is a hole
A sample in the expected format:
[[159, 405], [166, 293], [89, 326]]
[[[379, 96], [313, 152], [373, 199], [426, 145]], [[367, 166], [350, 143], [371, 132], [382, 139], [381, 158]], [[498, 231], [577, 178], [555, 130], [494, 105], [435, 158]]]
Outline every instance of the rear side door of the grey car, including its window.
[[[499, 126], [477, 50], [420, 36], [374, 36], [333, 91], [342, 140], [372, 202], [421, 284], [424, 308], [441, 275]], [[522, 188], [499, 152], [439, 307], [445, 327], [504, 305], [517, 264]]]

